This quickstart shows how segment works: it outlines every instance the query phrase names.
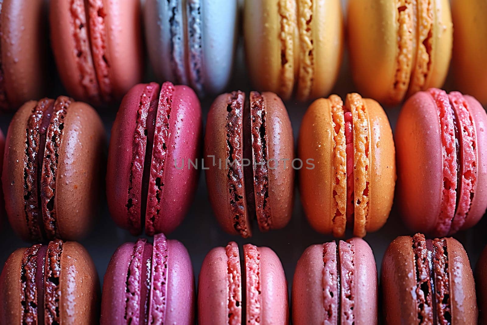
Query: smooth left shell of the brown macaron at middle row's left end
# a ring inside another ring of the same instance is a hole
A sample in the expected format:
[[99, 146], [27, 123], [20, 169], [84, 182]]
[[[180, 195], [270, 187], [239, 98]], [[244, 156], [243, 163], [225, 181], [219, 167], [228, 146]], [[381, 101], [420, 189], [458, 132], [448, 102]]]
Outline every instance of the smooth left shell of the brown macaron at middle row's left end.
[[2, 188], [5, 198], [5, 210], [14, 231], [24, 241], [30, 241], [24, 210], [24, 166], [25, 140], [28, 116], [36, 107], [37, 101], [28, 101], [22, 105], [10, 122], [5, 139], [3, 158]]

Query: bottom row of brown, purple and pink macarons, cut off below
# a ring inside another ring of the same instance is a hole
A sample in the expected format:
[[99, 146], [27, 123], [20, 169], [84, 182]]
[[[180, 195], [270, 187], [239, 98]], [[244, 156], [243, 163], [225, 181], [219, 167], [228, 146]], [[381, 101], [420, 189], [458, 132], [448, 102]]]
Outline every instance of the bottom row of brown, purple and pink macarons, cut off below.
[[[268, 247], [235, 242], [206, 255], [195, 298], [187, 249], [164, 234], [116, 249], [99, 282], [77, 242], [14, 251], [0, 276], [1, 324], [481, 324], [487, 322], [487, 249], [475, 280], [456, 239], [397, 237], [382, 260], [379, 299], [363, 239], [309, 246], [292, 282]], [[196, 306], [197, 300], [197, 308]], [[477, 306], [478, 304], [478, 306]], [[101, 309], [101, 316], [100, 316]], [[480, 314], [479, 314], [480, 311]], [[479, 317], [480, 316], [480, 317]], [[100, 318], [99, 318], [100, 317]]]

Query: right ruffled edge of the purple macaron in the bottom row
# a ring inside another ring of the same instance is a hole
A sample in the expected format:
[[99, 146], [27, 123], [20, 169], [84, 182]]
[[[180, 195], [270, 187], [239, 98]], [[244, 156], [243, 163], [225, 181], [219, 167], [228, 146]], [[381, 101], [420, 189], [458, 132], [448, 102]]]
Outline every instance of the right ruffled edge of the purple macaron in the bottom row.
[[162, 233], [154, 236], [150, 287], [152, 290], [147, 324], [164, 324], [168, 291], [168, 242]]

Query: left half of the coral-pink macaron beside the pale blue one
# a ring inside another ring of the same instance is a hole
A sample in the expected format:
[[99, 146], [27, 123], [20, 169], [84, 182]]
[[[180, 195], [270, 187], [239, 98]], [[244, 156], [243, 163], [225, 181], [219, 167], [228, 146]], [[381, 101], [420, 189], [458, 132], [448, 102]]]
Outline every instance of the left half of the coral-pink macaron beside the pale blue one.
[[[99, 87], [93, 65], [91, 47], [88, 39], [88, 22], [82, 0], [52, 0], [49, 5], [51, 43], [56, 58], [57, 71], [68, 93], [78, 100], [99, 102]], [[73, 9], [73, 11], [72, 11]], [[77, 17], [80, 17], [78, 19]], [[81, 20], [84, 19], [84, 20]], [[86, 31], [75, 33], [75, 21], [83, 24]], [[84, 37], [79, 37], [79, 34]], [[76, 46], [79, 38], [83, 47]], [[82, 57], [77, 54], [82, 53]], [[81, 72], [81, 70], [83, 73]]]

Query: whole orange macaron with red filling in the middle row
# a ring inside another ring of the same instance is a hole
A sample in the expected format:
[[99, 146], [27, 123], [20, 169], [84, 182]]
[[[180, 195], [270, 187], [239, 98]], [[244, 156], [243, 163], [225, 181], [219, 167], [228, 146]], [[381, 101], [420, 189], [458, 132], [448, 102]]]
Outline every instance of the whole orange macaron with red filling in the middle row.
[[298, 139], [300, 196], [311, 226], [343, 237], [363, 237], [386, 222], [394, 185], [394, 142], [389, 120], [373, 99], [348, 94], [315, 100]]

